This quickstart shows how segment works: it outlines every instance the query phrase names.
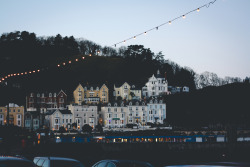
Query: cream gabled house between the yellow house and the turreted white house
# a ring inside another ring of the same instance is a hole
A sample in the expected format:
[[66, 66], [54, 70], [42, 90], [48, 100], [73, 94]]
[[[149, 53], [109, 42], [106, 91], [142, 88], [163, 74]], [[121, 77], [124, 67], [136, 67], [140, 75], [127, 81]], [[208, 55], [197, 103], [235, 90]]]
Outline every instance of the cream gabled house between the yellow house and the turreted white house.
[[135, 85], [129, 85], [124, 82], [122, 85], [114, 85], [114, 96], [115, 99], [120, 96], [122, 99], [132, 100], [132, 98], [141, 99], [141, 89], [137, 88]]

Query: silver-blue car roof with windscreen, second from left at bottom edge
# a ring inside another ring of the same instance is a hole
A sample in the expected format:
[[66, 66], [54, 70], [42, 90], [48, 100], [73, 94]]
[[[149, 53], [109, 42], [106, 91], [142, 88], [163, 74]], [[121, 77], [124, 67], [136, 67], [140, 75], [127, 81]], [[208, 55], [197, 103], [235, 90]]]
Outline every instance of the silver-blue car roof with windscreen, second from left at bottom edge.
[[80, 161], [62, 157], [35, 157], [37, 167], [84, 167]]

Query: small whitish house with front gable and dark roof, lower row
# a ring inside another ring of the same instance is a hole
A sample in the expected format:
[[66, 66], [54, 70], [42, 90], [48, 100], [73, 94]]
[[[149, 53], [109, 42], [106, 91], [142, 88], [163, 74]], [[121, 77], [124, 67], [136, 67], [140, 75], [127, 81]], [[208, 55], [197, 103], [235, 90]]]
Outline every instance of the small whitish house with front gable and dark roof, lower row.
[[67, 129], [72, 128], [73, 116], [69, 110], [53, 110], [45, 116], [45, 122], [51, 130], [59, 130], [61, 126]]

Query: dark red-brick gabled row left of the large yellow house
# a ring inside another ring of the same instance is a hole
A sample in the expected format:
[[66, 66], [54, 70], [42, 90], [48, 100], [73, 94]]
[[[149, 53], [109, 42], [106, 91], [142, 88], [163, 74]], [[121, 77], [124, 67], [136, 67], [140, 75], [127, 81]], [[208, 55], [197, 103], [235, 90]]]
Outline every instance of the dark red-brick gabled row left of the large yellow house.
[[63, 90], [56, 92], [31, 92], [26, 97], [27, 111], [47, 111], [66, 109], [67, 95]]

